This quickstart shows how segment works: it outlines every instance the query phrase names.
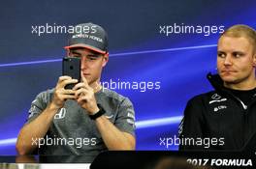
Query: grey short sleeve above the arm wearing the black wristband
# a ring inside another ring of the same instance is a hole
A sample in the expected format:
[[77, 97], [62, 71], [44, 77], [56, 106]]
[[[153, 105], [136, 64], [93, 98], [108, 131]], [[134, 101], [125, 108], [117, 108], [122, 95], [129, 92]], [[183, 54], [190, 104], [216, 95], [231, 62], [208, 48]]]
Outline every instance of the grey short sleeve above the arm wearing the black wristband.
[[135, 111], [130, 99], [121, 101], [114, 126], [135, 136]]

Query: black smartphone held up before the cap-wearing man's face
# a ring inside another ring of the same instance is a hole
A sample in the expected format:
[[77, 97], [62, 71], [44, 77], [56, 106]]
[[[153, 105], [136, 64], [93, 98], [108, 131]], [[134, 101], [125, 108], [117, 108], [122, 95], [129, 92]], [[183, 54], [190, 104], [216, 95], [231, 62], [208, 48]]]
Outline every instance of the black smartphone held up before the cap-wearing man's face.
[[[64, 57], [62, 60], [62, 75], [71, 76], [80, 82], [80, 58]], [[76, 84], [67, 84], [65, 89], [72, 89]]]

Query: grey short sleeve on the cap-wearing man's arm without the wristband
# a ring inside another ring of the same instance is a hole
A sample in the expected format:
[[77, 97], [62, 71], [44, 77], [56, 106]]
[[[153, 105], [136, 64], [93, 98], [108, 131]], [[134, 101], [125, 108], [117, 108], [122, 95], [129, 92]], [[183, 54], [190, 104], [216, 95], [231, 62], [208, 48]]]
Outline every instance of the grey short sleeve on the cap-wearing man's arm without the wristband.
[[48, 95], [47, 92], [40, 93], [36, 99], [31, 102], [31, 107], [28, 111], [26, 124], [29, 124], [36, 119], [47, 107]]

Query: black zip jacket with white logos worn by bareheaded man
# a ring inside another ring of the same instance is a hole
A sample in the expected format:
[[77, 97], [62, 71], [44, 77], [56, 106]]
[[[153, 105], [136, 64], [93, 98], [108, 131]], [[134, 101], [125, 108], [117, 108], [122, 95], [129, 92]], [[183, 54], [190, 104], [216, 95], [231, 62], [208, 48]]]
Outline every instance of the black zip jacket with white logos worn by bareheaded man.
[[213, 144], [180, 144], [179, 150], [241, 150], [256, 133], [256, 90], [227, 89], [219, 75], [210, 73], [208, 80], [214, 91], [188, 101], [179, 126], [179, 139], [209, 138]]

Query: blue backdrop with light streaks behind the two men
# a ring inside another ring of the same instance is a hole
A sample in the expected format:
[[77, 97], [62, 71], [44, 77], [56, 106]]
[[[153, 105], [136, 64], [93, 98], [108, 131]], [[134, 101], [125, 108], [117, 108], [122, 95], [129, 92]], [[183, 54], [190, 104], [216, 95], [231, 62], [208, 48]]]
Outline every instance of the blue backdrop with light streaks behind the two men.
[[255, 28], [255, 6], [236, 0], [2, 2], [0, 155], [16, 155], [16, 136], [31, 101], [61, 75], [68, 35], [54, 27], [82, 22], [109, 33], [102, 81], [132, 100], [136, 149], [177, 150], [160, 140], [176, 137], [188, 99], [211, 90], [206, 74], [215, 72], [219, 34], [239, 23]]

